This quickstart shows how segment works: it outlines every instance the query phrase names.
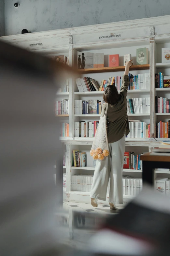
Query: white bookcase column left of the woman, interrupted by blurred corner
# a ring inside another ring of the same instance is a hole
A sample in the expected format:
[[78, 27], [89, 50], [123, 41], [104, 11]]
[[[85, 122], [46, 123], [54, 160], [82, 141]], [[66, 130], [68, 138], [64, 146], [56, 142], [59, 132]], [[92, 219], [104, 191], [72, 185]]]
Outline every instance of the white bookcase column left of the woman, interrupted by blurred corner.
[[[69, 36], [69, 66], [73, 67], [73, 37]], [[69, 79], [69, 137], [74, 137], [74, 88], [73, 77]]]

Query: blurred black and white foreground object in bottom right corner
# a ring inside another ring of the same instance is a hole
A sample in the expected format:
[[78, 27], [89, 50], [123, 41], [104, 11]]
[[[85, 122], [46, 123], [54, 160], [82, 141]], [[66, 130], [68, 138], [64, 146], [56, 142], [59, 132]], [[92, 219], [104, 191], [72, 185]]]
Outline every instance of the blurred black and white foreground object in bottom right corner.
[[169, 255], [170, 197], [142, 192], [91, 239], [95, 255]]

